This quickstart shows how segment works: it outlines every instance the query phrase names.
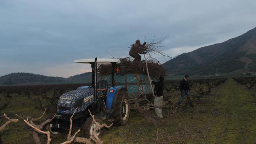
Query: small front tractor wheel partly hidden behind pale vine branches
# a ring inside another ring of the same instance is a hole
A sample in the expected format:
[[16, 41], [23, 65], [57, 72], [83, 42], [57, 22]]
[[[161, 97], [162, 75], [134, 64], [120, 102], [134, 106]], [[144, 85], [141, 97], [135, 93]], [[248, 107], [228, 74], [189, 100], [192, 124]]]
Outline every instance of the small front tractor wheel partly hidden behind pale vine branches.
[[[83, 135], [85, 138], [90, 138], [90, 136], [93, 134], [93, 130], [98, 126], [103, 124], [102, 120], [97, 117], [94, 116], [94, 119], [96, 120], [96, 123], [93, 124], [93, 118], [92, 117], [88, 117], [87, 120], [84, 123], [84, 127], [83, 127]], [[96, 131], [96, 134], [98, 137], [101, 137], [103, 135], [104, 132], [104, 128], [99, 129], [98, 131]]]

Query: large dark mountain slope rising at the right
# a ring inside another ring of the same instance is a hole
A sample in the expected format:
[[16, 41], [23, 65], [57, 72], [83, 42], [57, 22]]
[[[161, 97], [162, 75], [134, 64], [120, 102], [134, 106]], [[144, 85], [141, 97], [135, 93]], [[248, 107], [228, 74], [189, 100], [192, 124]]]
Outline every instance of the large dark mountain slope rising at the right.
[[169, 75], [240, 74], [256, 71], [256, 27], [239, 37], [184, 53], [165, 63]]

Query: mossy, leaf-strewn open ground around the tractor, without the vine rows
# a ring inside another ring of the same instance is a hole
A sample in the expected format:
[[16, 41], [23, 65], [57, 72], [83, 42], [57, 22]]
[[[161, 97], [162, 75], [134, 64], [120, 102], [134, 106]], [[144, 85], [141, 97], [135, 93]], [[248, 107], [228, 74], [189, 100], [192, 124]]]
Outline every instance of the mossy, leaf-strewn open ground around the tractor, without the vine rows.
[[[195, 107], [181, 106], [175, 114], [163, 109], [163, 126], [156, 127], [131, 111], [126, 126], [104, 131], [101, 140], [109, 144], [121, 143], [255, 143], [256, 144], [256, 88], [247, 89], [228, 79], [212, 89], [206, 98], [195, 99]], [[175, 99], [179, 99], [176, 97]], [[42, 114], [34, 109], [27, 97], [17, 97], [4, 112], [22, 113], [34, 117]], [[154, 110], [151, 111], [154, 114]], [[0, 119], [0, 124], [5, 119]], [[82, 133], [79, 133], [81, 135]], [[79, 136], [78, 135], [78, 136]], [[52, 138], [52, 144], [66, 141], [66, 136]], [[3, 144], [33, 143], [31, 130], [22, 121], [9, 124], [1, 131]], [[40, 136], [45, 142], [46, 137]]]

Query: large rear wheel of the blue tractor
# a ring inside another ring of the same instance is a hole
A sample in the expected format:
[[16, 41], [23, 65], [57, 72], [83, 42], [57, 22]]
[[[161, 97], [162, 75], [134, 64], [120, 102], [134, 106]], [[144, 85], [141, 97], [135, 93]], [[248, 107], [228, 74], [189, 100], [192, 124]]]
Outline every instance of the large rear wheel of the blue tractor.
[[115, 126], [124, 126], [128, 123], [130, 115], [130, 107], [129, 107], [129, 97], [128, 93], [125, 90], [120, 90], [116, 103], [114, 112], [112, 114], [114, 118], [114, 125]]

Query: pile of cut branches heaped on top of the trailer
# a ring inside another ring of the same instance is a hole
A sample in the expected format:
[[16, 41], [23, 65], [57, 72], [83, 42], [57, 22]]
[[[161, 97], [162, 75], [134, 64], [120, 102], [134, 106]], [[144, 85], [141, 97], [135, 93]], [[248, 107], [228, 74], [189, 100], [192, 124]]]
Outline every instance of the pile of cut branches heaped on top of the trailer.
[[[133, 63], [133, 58], [126, 57], [120, 58], [120, 63], [122, 66], [125, 67], [125, 73], [139, 73], [139, 74], [147, 74], [146, 71], [146, 63]], [[159, 61], [154, 58], [147, 59], [147, 67], [149, 74], [153, 77], [158, 77], [160, 75], [166, 75], [166, 69], [163, 67]], [[112, 66], [111, 64], [100, 64], [98, 66], [98, 73], [100, 75], [104, 74], [111, 74], [112, 73]]]

